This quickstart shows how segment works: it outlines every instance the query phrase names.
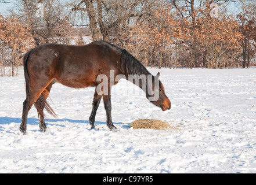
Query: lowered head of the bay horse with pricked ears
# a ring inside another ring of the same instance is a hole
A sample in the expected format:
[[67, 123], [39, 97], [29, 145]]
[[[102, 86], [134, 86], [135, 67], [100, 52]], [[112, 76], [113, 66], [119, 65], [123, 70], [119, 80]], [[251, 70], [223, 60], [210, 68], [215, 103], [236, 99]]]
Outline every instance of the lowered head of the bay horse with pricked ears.
[[146, 93], [147, 99], [152, 102], [154, 105], [160, 107], [163, 111], [167, 109], [171, 109], [171, 101], [168, 99], [167, 95], [165, 95], [164, 86], [161, 81], [158, 79], [160, 73], [152, 79], [152, 90], [153, 93]]

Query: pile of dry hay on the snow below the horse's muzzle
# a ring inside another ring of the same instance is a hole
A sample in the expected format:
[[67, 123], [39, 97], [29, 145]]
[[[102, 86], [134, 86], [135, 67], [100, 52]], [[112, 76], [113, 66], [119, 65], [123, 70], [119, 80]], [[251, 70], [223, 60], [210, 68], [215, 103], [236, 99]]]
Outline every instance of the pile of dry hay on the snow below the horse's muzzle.
[[150, 128], [150, 129], [165, 129], [165, 128], [171, 128], [171, 126], [160, 120], [155, 120], [155, 119], [139, 119], [132, 121], [130, 127], [134, 129], [139, 129], [139, 128]]

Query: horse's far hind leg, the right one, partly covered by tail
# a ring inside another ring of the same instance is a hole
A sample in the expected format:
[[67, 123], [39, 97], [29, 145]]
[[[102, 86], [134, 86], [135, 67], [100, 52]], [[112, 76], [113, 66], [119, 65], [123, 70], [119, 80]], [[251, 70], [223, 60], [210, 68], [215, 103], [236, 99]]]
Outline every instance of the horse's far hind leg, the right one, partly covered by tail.
[[[41, 93], [40, 97], [37, 99], [39, 101], [40, 98], [44, 98], [45, 100], [48, 98], [51, 88], [52, 88], [52, 82], [45, 88], [45, 90]], [[36, 101], [36, 102], [37, 102]], [[45, 107], [45, 102], [42, 102], [41, 104], [38, 102], [39, 106], [41, 106], [42, 111], [44, 111]], [[44, 115], [41, 115], [41, 113], [37, 110], [38, 113], [38, 123], [39, 123], [39, 128], [41, 129], [42, 132], [46, 131], [46, 124], [45, 124], [45, 119]]]

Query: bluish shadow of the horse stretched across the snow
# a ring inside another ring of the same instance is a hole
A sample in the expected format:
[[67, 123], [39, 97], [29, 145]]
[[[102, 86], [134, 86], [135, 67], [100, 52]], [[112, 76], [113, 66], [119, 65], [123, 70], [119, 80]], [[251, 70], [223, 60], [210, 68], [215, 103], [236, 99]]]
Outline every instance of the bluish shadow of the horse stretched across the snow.
[[[83, 124], [89, 124], [88, 120], [71, 120], [71, 119], [45, 119], [45, 123], [46, 126], [47, 125], [56, 125], [59, 127], [66, 127], [65, 122], [68, 121], [69, 123], [83, 123]], [[10, 124], [10, 123], [17, 123], [20, 124], [21, 123], [21, 119], [20, 118], [16, 118], [16, 117], [0, 117], [0, 125], [3, 124]], [[27, 124], [28, 125], [38, 125], [38, 119], [34, 118], [34, 117], [30, 117], [27, 119]], [[95, 121], [96, 125], [106, 125], [106, 122], [102, 122], [102, 121]], [[113, 123], [116, 125], [120, 125], [122, 128], [129, 128], [128, 124], [124, 124], [122, 122], [118, 122], [118, 123]], [[0, 131], [1, 131], [1, 126], [0, 126]]]

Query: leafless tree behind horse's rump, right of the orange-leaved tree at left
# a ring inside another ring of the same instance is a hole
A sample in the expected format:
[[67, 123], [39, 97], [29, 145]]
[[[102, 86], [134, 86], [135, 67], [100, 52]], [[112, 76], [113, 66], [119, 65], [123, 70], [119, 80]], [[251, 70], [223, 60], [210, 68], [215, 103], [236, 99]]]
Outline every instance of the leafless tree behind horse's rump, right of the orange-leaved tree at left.
[[[44, 12], [36, 16], [38, 3]], [[64, 5], [54, 0], [17, 0], [16, 9], [10, 10], [13, 17], [31, 27], [31, 34], [37, 45], [42, 43], [69, 43], [71, 39], [70, 24]]]

